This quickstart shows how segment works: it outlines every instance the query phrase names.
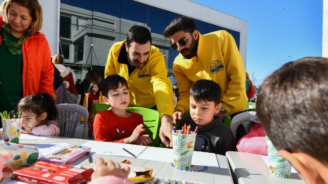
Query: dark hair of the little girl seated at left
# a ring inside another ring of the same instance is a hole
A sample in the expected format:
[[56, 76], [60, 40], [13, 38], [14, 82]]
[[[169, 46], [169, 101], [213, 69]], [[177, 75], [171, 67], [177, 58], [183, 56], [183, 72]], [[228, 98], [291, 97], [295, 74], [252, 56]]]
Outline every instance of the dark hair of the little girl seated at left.
[[18, 110], [23, 112], [33, 112], [38, 118], [42, 113], [47, 112], [46, 120], [57, 118], [57, 108], [51, 95], [43, 93], [42, 95], [28, 95], [18, 103]]

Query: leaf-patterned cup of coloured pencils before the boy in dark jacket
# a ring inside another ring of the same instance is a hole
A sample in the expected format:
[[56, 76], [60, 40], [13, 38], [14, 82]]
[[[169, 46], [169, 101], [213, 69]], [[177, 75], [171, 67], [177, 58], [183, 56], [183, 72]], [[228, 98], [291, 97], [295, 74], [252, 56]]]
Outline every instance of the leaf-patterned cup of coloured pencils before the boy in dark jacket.
[[188, 170], [191, 166], [197, 134], [181, 134], [181, 130], [178, 132], [172, 131], [174, 167]]

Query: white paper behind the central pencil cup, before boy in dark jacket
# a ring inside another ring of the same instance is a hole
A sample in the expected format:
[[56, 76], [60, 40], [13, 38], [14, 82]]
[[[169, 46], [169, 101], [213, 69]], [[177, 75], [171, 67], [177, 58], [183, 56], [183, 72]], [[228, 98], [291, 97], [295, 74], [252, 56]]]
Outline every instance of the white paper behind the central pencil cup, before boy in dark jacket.
[[[155, 160], [159, 162], [173, 162], [173, 149], [148, 147], [138, 158]], [[220, 167], [214, 153], [194, 151], [191, 165]]]

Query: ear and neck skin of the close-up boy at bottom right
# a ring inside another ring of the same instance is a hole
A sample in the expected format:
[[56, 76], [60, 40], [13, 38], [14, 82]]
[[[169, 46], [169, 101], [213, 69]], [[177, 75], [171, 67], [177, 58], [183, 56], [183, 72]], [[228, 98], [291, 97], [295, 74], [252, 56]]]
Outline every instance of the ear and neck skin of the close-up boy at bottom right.
[[292, 164], [305, 183], [324, 183], [323, 178], [328, 168], [319, 160], [299, 151], [290, 153], [285, 150], [279, 150], [278, 153]]

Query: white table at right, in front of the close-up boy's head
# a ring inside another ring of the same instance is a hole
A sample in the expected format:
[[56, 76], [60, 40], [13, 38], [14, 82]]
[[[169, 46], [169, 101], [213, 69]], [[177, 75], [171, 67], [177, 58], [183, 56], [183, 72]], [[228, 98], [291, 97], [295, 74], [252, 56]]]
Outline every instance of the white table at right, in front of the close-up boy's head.
[[297, 173], [291, 173], [290, 178], [271, 176], [267, 164], [259, 154], [229, 151], [226, 157], [235, 183], [304, 183]]

